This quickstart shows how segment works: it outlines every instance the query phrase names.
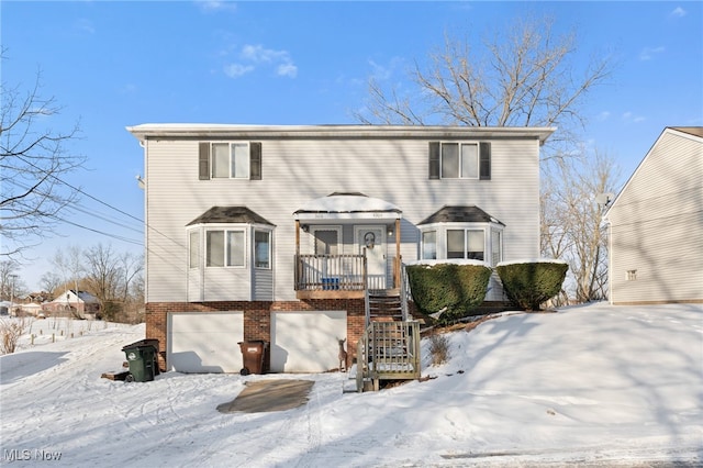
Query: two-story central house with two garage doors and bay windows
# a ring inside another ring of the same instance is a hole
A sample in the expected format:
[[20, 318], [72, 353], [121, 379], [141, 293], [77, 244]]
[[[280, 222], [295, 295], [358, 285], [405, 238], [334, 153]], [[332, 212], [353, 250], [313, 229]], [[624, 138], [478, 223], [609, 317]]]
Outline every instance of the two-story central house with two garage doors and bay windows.
[[[402, 263], [539, 255], [554, 129], [226, 124], [127, 127], [144, 148], [146, 335], [166, 367], [338, 367]], [[502, 302], [498, 278], [487, 301]], [[412, 309], [412, 304], [411, 308]]]

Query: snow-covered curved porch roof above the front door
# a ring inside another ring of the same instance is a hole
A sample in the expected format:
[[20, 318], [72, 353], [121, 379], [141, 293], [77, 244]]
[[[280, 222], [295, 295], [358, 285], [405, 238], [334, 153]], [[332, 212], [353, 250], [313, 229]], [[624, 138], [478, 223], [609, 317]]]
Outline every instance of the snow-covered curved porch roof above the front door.
[[293, 218], [298, 221], [400, 220], [402, 211], [393, 203], [364, 193], [334, 192], [303, 203]]

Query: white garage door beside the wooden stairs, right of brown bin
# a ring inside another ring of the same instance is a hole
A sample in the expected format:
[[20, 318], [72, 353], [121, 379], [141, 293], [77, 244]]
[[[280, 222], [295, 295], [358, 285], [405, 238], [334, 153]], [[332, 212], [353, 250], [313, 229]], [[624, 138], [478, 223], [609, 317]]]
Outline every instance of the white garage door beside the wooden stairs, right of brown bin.
[[346, 336], [346, 311], [274, 313], [271, 371], [324, 372], [336, 369], [339, 367], [337, 338]]

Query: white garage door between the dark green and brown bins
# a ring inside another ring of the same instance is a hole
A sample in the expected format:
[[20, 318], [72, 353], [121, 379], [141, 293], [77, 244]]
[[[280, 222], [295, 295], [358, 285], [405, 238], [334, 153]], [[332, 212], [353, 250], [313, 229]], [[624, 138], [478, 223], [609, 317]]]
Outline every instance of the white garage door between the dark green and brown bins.
[[243, 339], [243, 312], [170, 313], [168, 367], [178, 372], [238, 372]]

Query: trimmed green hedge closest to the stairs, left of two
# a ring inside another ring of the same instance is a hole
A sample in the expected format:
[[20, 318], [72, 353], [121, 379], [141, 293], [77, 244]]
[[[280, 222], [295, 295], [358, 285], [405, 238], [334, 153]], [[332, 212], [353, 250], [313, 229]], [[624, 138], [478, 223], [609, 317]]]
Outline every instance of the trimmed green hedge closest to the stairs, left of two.
[[437, 322], [450, 323], [468, 316], [486, 298], [492, 270], [478, 264], [406, 265], [410, 291], [425, 315], [446, 308]]

